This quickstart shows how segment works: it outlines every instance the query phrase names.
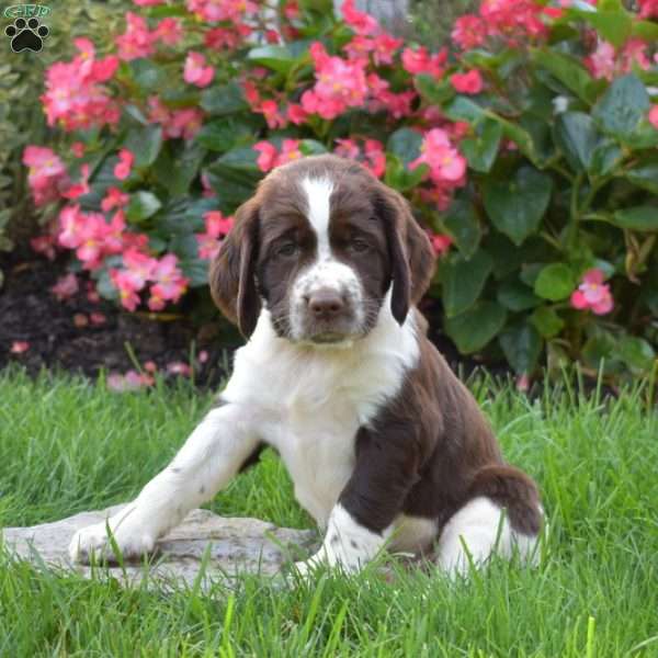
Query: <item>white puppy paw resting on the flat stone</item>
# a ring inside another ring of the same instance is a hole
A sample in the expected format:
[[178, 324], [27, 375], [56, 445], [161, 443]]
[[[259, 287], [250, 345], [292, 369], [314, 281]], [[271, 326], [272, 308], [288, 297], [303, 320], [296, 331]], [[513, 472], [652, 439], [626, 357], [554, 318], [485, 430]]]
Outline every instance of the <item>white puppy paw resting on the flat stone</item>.
[[[107, 526], [112, 531], [112, 541], [107, 536]], [[150, 553], [156, 545], [155, 537], [144, 532], [144, 529], [135, 527], [134, 523], [128, 524], [127, 520], [123, 523], [120, 520], [117, 523], [110, 519], [107, 522], [95, 523], [76, 532], [69, 545], [69, 556], [73, 561], [82, 564], [89, 564], [92, 555], [97, 560], [105, 558], [116, 561], [113, 543], [124, 559]]]

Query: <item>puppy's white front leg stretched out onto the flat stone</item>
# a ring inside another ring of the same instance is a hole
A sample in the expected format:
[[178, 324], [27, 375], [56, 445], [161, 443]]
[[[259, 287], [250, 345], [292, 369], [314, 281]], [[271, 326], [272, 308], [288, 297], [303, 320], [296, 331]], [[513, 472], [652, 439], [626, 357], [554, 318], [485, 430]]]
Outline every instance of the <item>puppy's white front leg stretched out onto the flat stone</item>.
[[237, 404], [212, 409], [173, 462], [133, 502], [106, 522], [73, 535], [71, 559], [89, 561], [93, 552], [113, 557], [107, 525], [125, 557], [152, 551], [159, 536], [180, 523], [190, 510], [213, 498], [257, 450], [252, 418], [252, 410]]

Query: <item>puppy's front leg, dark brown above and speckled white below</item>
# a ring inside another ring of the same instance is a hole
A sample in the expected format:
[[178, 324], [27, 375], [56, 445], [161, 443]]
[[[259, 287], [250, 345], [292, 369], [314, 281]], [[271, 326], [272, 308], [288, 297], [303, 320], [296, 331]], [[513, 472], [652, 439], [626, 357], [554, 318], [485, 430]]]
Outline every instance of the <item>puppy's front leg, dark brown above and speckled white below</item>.
[[358, 571], [386, 543], [405, 498], [417, 481], [419, 451], [412, 423], [397, 421], [384, 430], [361, 428], [356, 464], [331, 510], [320, 549], [296, 563], [302, 574], [321, 563]]

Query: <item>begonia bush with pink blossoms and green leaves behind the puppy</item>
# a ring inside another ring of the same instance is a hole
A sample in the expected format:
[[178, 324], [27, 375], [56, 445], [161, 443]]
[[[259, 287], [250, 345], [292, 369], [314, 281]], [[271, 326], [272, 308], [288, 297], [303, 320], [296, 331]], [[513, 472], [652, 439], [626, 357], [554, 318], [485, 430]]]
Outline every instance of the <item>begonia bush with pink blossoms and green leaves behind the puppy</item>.
[[332, 151], [411, 202], [462, 353], [504, 355], [522, 381], [543, 354], [650, 371], [658, 2], [485, 0], [438, 52], [353, 0], [340, 16], [324, 0], [136, 4], [47, 71], [59, 137], [24, 152], [49, 223], [35, 249], [160, 311], [206, 286], [264, 172]]

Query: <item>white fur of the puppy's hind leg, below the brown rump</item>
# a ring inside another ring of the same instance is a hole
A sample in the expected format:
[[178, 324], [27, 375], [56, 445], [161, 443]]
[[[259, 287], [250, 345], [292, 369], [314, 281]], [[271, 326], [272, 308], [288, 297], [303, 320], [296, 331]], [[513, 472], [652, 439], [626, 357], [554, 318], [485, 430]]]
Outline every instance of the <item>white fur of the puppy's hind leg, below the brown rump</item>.
[[445, 524], [439, 540], [439, 564], [451, 576], [466, 575], [470, 561], [477, 567], [492, 553], [510, 558], [514, 551], [522, 559], [536, 559], [537, 537], [514, 532], [502, 510], [480, 496]]

